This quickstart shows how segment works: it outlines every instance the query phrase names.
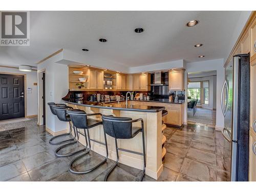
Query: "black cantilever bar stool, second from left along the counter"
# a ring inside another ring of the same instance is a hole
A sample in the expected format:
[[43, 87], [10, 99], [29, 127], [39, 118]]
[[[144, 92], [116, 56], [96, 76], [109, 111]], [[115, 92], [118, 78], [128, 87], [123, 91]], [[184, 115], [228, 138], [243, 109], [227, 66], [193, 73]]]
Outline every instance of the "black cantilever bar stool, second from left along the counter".
[[[74, 143], [77, 143], [78, 142], [78, 139], [79, 139], [79, 134], [81, 134], [80, 132], [77, 131], [77, 129], [72, 126], [71, 124], [71, 119], [70, 119], [70, 116], [67, 114], [67, 110], [68, 109], [73, 109], [71, 107], [68, 107], [68, 106], [58, 106], [58, 105], [53, 105], [53, 109], [55, 110], [56, 112], [56, 115], [58, 117], [58, 119], [60, 121], [64, 121], [64, 122], [69, 122], [70, 124], [70, 129], [73, 128], [73, 131], [74, 131], [74, 139], [72, 142], [69, 142], [69, 143], [66, 143], [66, 144], [63, 144], [61, 146], [59, 146], [56, 150], [55, 150], [55, 155], [57, 157], [68, 157], [68, 156], [72, 156], [74, 154], [77, 154], [77, 153], [80, 153], [82, 151], [85, 151], [87, 147], [84, 147], [82, 148], [81, 150], [78, 150], [78, 151], [75, 151], [75, 152], [72, 152], [72, 153], [69, 153], [69, 154], [65, 154], [65, 155], [61, 155], [61, 154], [58, 154], [58, 152], [62, 149], [62, 148], [65, 148], [69, 145], [72, 145]], [[77, 111], [77, 110], [74, 110], [74, 111]]]

